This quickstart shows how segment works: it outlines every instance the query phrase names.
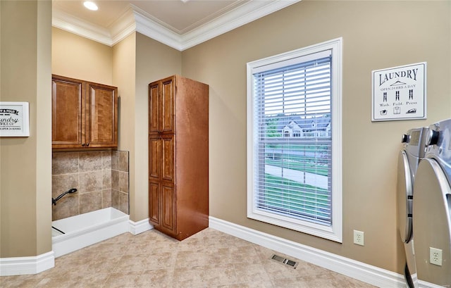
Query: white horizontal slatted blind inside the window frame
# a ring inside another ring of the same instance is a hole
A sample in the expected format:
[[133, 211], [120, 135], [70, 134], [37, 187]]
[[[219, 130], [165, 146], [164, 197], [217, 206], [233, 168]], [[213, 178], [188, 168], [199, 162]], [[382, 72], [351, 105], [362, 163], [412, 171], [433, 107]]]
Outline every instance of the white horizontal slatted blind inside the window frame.
[[332, 223], [330, 63], [327, 56], [254, 74], [259, 209]]

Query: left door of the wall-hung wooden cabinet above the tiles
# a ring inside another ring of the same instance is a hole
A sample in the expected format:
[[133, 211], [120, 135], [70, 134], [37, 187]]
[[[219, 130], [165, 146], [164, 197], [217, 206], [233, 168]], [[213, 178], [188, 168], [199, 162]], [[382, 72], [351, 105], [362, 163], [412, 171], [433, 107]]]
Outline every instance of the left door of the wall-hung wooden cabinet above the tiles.
[[64, 77], [51, 81], [51, 142], [53, 148], [80, 148], [84, 143], [85, 105], [82, 82]]

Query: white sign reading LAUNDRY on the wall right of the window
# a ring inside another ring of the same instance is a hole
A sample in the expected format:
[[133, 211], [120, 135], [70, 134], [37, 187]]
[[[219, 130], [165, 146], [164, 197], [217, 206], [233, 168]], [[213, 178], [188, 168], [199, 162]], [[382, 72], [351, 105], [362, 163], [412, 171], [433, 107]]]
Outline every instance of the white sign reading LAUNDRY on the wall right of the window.
[[426, 119], [426, 62], [373, 70], [372, 121]]

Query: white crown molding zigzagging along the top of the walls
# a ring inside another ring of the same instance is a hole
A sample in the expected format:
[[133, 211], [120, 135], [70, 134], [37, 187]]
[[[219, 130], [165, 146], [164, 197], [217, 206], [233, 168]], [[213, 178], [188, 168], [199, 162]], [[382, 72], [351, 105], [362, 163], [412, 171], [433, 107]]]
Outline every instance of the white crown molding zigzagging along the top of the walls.
[[108, 28], [87, 23], [58, 8], [53, 9], [52, 25], [108, 46], [121, 42], [136, 31], [183, 51], [299, 1], [301, 0], [248, 1], [185, 34], [174, 32], [152, 15], [131, 4]]

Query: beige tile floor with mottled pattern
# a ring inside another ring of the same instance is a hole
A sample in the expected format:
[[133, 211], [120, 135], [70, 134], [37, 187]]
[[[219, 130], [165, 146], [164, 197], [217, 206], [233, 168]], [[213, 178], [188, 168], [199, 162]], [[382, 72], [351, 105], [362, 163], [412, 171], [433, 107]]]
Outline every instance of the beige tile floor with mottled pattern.
[[37, 275], [0, 277], [0, 287], [373, 287], [304, 261], [293, 269], [273, 253], [211, 228], [183, 242], [149, 230], [56, 258]]

